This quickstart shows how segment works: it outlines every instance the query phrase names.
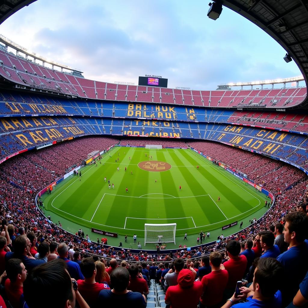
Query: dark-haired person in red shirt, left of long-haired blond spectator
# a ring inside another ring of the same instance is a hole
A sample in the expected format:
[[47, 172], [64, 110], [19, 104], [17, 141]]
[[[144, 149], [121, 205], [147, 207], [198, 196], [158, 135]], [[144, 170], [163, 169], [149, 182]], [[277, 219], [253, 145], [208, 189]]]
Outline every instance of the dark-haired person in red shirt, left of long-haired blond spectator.
[[80, 270], [84, 280], [77, 280], [78, 290], [88, 305], [94, 308], [97, 306], [99, 292], [104, 289], [110, 290], [110, 288], [105, 283], [95, 281], [96, 265], [92, 257], [84, 258], [81, 261]]

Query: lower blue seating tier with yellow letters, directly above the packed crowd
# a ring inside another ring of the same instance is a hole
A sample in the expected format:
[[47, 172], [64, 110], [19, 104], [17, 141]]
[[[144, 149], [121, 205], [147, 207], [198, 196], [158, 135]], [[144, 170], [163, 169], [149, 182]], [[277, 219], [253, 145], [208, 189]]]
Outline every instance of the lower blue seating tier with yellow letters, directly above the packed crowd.
[[285, 160], [304, 169], [307, 168], [308, 139], [304, 134], [230, 124], [123, 120], [111, 117], [1, 118], [1, 158], [27, 148], [85, 135], [161, 136], [213, 140]]

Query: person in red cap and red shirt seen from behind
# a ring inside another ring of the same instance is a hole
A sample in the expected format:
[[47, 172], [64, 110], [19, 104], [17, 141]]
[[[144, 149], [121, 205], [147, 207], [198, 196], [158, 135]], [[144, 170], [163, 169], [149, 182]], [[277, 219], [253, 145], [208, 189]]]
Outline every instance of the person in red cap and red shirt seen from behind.
[[194, 281], [191, 270], [181, 270], [177, 277], [177, 285], [170, 286], [165, 295], [165, 303], [170, 308], [197, 307], [199, 298], [203, 293], [200, 281]]

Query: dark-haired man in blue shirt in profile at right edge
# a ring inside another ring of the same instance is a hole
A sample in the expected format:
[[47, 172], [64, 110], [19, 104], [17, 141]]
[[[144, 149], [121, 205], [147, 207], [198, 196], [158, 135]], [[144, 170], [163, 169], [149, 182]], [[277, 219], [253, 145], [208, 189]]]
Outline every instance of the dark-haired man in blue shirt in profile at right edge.
[[285, 217], [284, 238], [289, 249], [277, 257], [285, 270], [287, 283], [282, 285], [282, 303], [287, 306], [299, 289], [299, 284], [308, 271], [308, 216], [302, 212], [289, 213]]

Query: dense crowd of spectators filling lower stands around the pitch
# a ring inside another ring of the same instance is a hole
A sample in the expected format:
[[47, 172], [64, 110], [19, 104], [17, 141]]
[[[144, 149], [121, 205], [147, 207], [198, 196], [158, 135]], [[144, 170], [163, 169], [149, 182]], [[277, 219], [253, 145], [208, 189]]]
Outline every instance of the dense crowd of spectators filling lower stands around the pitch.
[[[121, 143], [122, 144], [124, 143], [124, 145], [127, 145], [127, 144], [136, 145], [136, 143], [140, 145], [162, 144], [161, 139], [159, 140], [152, 139], [150, 141], [151, 143], [149, 143], [149, 140], [151, 139], [147, 138], [147, 139], [141, 140], [141, 139], [132, 138], [132, 139], [122, 140]], [[187, 144], [184, 144], [184, 142], [181, 140], [172, 140], [172, 142], [168, 142], [168, 141], [169, 140], [166, 140], [165, 144], [162, 144], [162, 145], [174, 146], [174, 147], [187, 147]], [[241, 167], [243, 166], [243, 168], [245, 168], [245, 172], [248, 174], [248, 178], [250, 177], [249, 168], [251, 168], [251, 172], [254, 172], [255, 171], [253, 169], [254, 168], [253, 166], [255, 166], [254, 162], [256, 159], [260, 160], [260, 164], [265, 167], [264, 168], [265, 171], [263, 173], [262, 172], [263, 169], [258, 168], [256, 178], [259, 181], [260, 180], [262, 181], [266, 189], [274, 193], [276, 197], [274, 206], [268, 211], [268, 213], [265, 216], [253, 222], [248, 228], [245, 228], [241, 230], [239, 233], [237, 233], [236, 235], [227, 237], [223, 239], [222, 241], [219, 241], [213, 245], [209, 245], [209, 246], [200, 245], [197, 249], [192, 249], [191, 251], [187, 251], [186, 249], [181, 249], [174, 253], [160, 253], [160, 254], [153, 253], [153, 252], [147, 253], [147, 252], [142, 252], [142, 251], [140, 251], [140, 253], [132, 253], [131, 251], [129, 251], [129, 249], [123, 248], [121, 250], [117, 250], [107, 245], [94, 243], [94, 242], [88, 241], [86, 238], [80, 237], [78, 235], [73, 235], [73, 234], [70, 234], [64, 231], [63, 229], [59, 228], [57, 224], [53, 224], [50, 220], [45, 218], [41, 214], [41, 212], [38, 210], [35, 204], [35, 201], [34, 201], [34, 197], [40, 191], [40, 189], [44, 188], [47, 184], [54, 181], [57, 177], [63, 175], [66, 172], [65, 170], [69, 166], [80, 163], [81, 159], [86, 158], [88, 153], [94, 150], [103, 150], [104, 148], [107, 148], [110, 145], [115, 144], [115, 143], [118, 143], [118, 140], [113, 139], [113, 138], [85, 137], [82, 139], [72, 140], [71, 142], [57, 144], [50, 148], [44, 148], [37, 152], [31, 152], [31, 153], [24, 154], [22, 156], [16, 156], [0, 165], [0, 215], [4, 219], [4, 221], [2, 221], [2, 230], [5, 233], [7, 233], [6, 234], [7, 243], [9, 243], [11, 240], [16, 241], [16, 238], [17, 238], [17, 239], [20, 239], [18, 240], [19, 245], [24, 245], [25, 247], [29, 247], [29, 251], [27, 250], [28, 248], [26, 248], [26, 250], [21, 249], [21, 251], [19, 252], [18, 252], [18, 249], [16, 250], [17, 246], [14, 247], [15, 248], [14, 254], [12, 254], [10, 257], [6, 256], [7, 261], [10, 258], [12, 258], [13, 260], [16, 258], [19, 258], [22, 260], [22, 262], [21, 263], [17, 262], [18, 264], [15, 262], [16, 263], [14, 265], [15, 267], [18, 267], [18, 268], [21, 267], [22, 269], [21, 272], [22, 271], [24, 272], [25, 270], [31, 271], [33, 268], [37, 266], [38, 268], [37, 272], [33, 270], [32, 273], [33, 275], [34, 274], [39, 275], [38, 273], [41, 267], [44, 268], [44, 266], [47, 266], [47, 271], [48, 271], [48, 268], [51, 270], [51, 268], [53, 267], [51, 265], [45, 265], [45, 264], [42, 266], [38, 266], [38, 265], [40, 263], [43, 263], [43, 261], [46, 259], [47, 256], [48, 256], [47, 260], [51, 261], [52, 259], [57, 257], [57, 254], [59, 254], [60, 259], [61, 258], [64, 259], [64, 261], [67, 263], [68, 271], [71, 274], [71, 276], [73, 275], [72, 268], [75, 268], [74, 278], [76, 280], [84, 279], [86, 281], [88, 279], [87, 282], [89, 281], [93, 282], [93, 278], [95, 279], [95, 276], [93, 276], [94, 270], [92, 272], [87, 271], [88, 274], [86, 277], [83, 271], [81, 271], [81, 273], [79, 272], [76, 265], [73, 266], [70, 264], [70, 262], [73, 262], [72, 259], [75, 261], [76, 264], [80, 264], [80, 262], [81, 263], [83, 262], [82, 260], [88, 259], [88, 257], [91, 255], [91, 256], [94, 256], [94, 260], [96, 261], [99, 260], [99, 258], [102, 258], [101, 263], [103, 263], [104, 266], [107, 268], [106, 272], [110, 276], [109, 284], [111, 284], [111, 287], [112, 287], [113, 283], [115, 283], [116, 278], [113, 278], [113, 281], [112, 281], [111, 272], [113, 272], [116, 269], [116, 267], [120, 265], [120, 261], [122, 260], [124, 260], [122, 262], [126, 262], [126, 263], [123, 263], [124, 265], [125, 264], [128, 265], [129, 263], [136, 262], [136, 261], [137, 262], [138, 261], [139, 262], [143, 262], [143, 261], [166, 262], [167, 261], [168, 263], [166, 263], [167, 267], [165, 269], [166, 270], [168, 269], [169, 271], [169, 266], [171, 266], [170, 262], [175, 261], [177, 258], [181, 258], [184, 260], [189, 260], [188, 266], [186, 265], [187, 270], [190, 270], [191, 272], [193, 271], [198, 272], [199, 267], [203, 267], [203, 266], [200, 266], [200, 261], [201, 261], [200, 258], [203, 255], [208, 255], [209, 253], [213, 253], [215, 251], [226, 248], [228, 251], [229, 258], [230, 258], [229, 261], [231, 261], [232, 259], [231, 256], [233, 255], [236, 257], [237, 253], [233, 252], [232, 254], [231, 252], [232, 248], [230, 250], [230, 246], [233, 247], [234, 245], [237, 245], [237, 244], [234, 244], [234, 242], [238, 243], [239, 241], [246, 241], [247, 246], [249, 246], [249, 242], [247, 242], [247, 240], [250, 241], [251, 238], [255, 238], [254, 247], [257, 247], [255, 250], [258, 250], [258, 247], [259, 247], [258, 234], [260, 233], [260, 231], [269, 230], [271, 226], [275, 226], [277, 223], [286, 224], [285, 215], [292, 209], [296, 209], [298, 210], [298, 212], [306, 211], [306, 201], [307, 200], [305, 199], [306, 197], [305, 191], [306, 191], [306, 187], [308, 184], [308, 180], [307, 180], [307, 177], [304, 175], [304, 173], [298, 172], [297, 169], [294, 168], [293, 166], [289, 166], [281, 162], [273, 162], [270, 159], [260, 157], [260, 156], [255, 156], [255, 154], [253, 153], [244, 152], [242, 150], [227, 147], [222, 144], [214, 144], [210, 142], [202, 142], [202, 143], [192, 142], [192, 143], [189, 143], [190, 146], [211, 156], [215, 160], [223, 161], [227, 164], [230, 164], [232, 167], [236, 166], [236, 169], [242, 172], [244, 172], [244, 169], [241, 169]], [[228, 152], [225, 152], [227, 149], [228, 149]], [[225, 153], [225, 156], [223, 156], [222, 153]], [[60, 158], [61, 156], [64, 158], [63, 159]], [[251, 163], [250, 167], [248, 163]], [[274, 164], [272, 165], [272, 168], [266, 168], [266, 165], [271, 164], [271, 163]], [[55, 165], [57, 166], [54, 168], [51, 168], [50, 167], [51, 165], [53, 167]], [[275, 168], [273, 169], [273, 167]], [[55, 169], [55, 170], [51, 170], [51, 169]], [[256, 172], [254, 172], [253, 174], [256, 174]], [[296, 208], [296, 206], [298, 205], [300, 201], [302, 201], [301, 207]], [[7, 224], [8, 226], [6, 227], [5, 225]], [[307, 226], [306, 226], [306, 229], [308, 229]], [[27, 237], [18, 237], [18, 235], [23, 236], [23, 234], [26, 234]], [[259, 237], [261, 237], [261, 235], [259, 235]], [[46, 242], [50, 244], [50, 249], [47, 249], [47, 247], [44, 247], [44, 243]], [[60, 250], [59, 250], [57, 243], [60, 243], [59, 245]], [[0, 258], [1, 258], [1, 255], [3, 255], [3, 253], [1, 254], [1, 248], [3, 248], [1, 247], [1, 245], [2, 244], [1, 244], [1, 239], [0, 239]], [[12, 246], [9, 246], [9, 247], [13, 248]], [[265, 252], [268, 249], [270, 249], [266, 245], [263, 248]], [[49, 250], [50, 250], [50, 255], [48, 255]], [[32, 251], [31, 255], [37, 258], [35, 259], [37, 261], [27, 257], [30, 251]], [[259, 252], [261, 253], [261, 251]], [[71, 256], [71, 260], [69, 260], [69, 255]], [[228, 257], [224, 255], [223, 252], [221, 252], [221, 256], [222, 256], [222, 259], [224, 260], [228, 259]], [[113, 258], [113, 259], [109, 261], [110, 258]], [[89, 264], [93, 263], [91, 260], [87, 260], [87, 261], [89, 261]], [[53, 266], [56, 268], [59, 268], [62, 266], [63, 268], [63, 265], [57, 262], [59, 261], [54, 261], [54, 263], [52, 263]], [[192, 263], [189, 263], [189, 262], [192, 262]], [[202, 262], [203, 263], [201, 263], [201, 265], [204, 265], [206, 267], [206, 261], [204, 260]], [[51, 262], [48, 262], [48, 263], [51, 263]], [[0, 265], [1, 265], [1, 260], [0, 260]], [[228, 263], [225, 264], [225, 269], [228, 271], [227, 265]], [[23, 266], [25, 267], [25, 269], [23, 269]], [[91, 266], [93, 267], [93, 264]], [[91, 268], [91, 266], [89, 265], [89, 268]], [[212, 266], [213, 266], [213, 262], [212, 262]], [[82, 266], [80, 266], [80, 268], [82, 268]], [[247, 262], [245, 264], [245, 270], [248, 270]], [[171, 270], [170, 273], [172, 272], [173, 271]], [[304, 271], [302, 271], [304, 275], [306, 274], [306, 272], [304, 273]], [[101, 277], [104, 277], [104, 281], [108, 280], [109, 279], [108, 276], [102, 273], [104, 273], [104, 269], [101, 270]], [[122, 270], [122, 273], [118, 273], [118, 272], [115, 272], [115, 273], [120, 276], [127, 275], [127, 273], [123, 272], [123, 270]], [[131, 273], [133, 273], [132, 270], [131, 270]], [[31, 276], [31, 275], [30, 275], [29, 281], [31, 281], [31, 283], [33, 284], [36, 278], [35, 276], [33, 275]], [[241, 276], [242, 276], [241, 278], [244, 278], [243, 273], [241, 273]], [[128, 277], [129, 277], [129, 272], [128, 272]], [[250, 280], [251, 280], [251, 277], [253, 277], [253, 273], [250, 272]], [[141, 279], [141, 277], [138, 277], [138, 278]], [[208, 278], [209, 277], [207, 277], [207, 279]], [[301, 280], [303, 278], [304, 277], [300, 277]], [[193, 284], [191, 284], [192, 282], [191, 278], [187, 278], [185, 276], [185, 278], [183, 279], [184, 280], [188, 279], [190, 282], [186, 282], [185, 280], [183, 281], [183, 283], [187, 283], [189, 286], [193, 287]], [[167, 281], [169, 281], [169, 279]], [[296, 283], [298, 281], [299, 281], [299, 278], [297, 279]], [[18, 281], [18, 282], [21, 282], [21, 281]], [[177, 282], [179, 281], [177, 280]], [[202, 282], [202, 279], [201, 279], [201, 282]], [[167, 282], [167, 285], [168, 285], [168, 282]], [[179, 282], [179, 285], [180, 285], [180, 282]], [[224, 291], [227, 292], [228, 297], [232, 295], [231, 291], [233, 290], [232, 290], [231, 285], [232, 284], [230, 282], [230, 284], [227, 284], [226, 287], [224, 288]], [[299, 283], [295, 285], [298, 288]], [[20, 287], [20, 284], [19, 284], [19, 287]], [[29, 286], [27, 287], [29, 288]], [[106, 290], [104, 290], [104, 293], [106, 292], [108, 293], [108, 288], [107, 287], [105, 288]], [[114, 288], [115, 289], [117, 288], [116, 283], [114, 284]], [[100, 290], [103, 290], [103, 289], [100, 289]], [[144, 287], [144, 290], [146, 290], [145, 287]], [[172, 289], [170, 289], [170, 292], [171, 290]], [[295, 289], [293, 290], [293, 293], [294, 291]], [[106, 301], [110, 300], [110, 297], [113, 296], [113, 294], [110, 294], [110, 292], [108, 294], [107, 293], [104, 294], [104, 296], [102, 295], [102, 298], [106, 298]], [[144, 291], [144, 293], [146, 293], [146, 291]], [[292, 296], [295, 295], [293, 293], [292, 293]], [[76, 298], [78, 296], [80, 296], [80, 294], [79, 295], [76, 294]], [[31, 299], [29, 297], [27, 298], [26, 294], [25, 294], [25, 298], [26, 298], [26, 301], [29, 301], [29, 304], [30, 304]], [[171, 305], [172, 305], [172, 298], [173, 298], [172, 293], [168, 294], [168, 290], [167, 290], [166, 302], [171, 302]], [[231, 299], [235, 301], [233, 297], [231, 297]], [[80, 297], [79, 297], [79, 300], [81, 301]], [[289, 300], [291, 300], [290, 296], [289, 298], [285, 300], [285, 303], [286, 301], [289, 301]], [[142, 302], [141, 298], [140, 298], [140, 301]], [[220, 303], [221, 302], [219, 302], [219, 304]], [[34, 305], [33, 302], [31, 302], [29, 307], [30, 308], [34, 307], [33, 305]], [[205, 306], [208, 306], [208, 305], [209, 304], [206, 303], [205, 301]]]

